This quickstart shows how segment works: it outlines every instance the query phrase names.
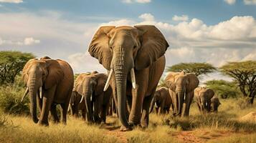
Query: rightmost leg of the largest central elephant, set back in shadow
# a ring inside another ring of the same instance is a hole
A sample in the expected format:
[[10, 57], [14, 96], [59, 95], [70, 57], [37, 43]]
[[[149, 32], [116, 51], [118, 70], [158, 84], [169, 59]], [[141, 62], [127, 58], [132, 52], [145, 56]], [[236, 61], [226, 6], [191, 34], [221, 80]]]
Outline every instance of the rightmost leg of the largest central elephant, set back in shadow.
[[149, 121], [149, 107], [151, 104], [151, 101], [153, 99], [153, 94], [149, 97], [145, 97], [143, 101], [143, 107], [142, 107], [142, 115], [141, 115], [141, 127], [148, 127], [148, 121]]

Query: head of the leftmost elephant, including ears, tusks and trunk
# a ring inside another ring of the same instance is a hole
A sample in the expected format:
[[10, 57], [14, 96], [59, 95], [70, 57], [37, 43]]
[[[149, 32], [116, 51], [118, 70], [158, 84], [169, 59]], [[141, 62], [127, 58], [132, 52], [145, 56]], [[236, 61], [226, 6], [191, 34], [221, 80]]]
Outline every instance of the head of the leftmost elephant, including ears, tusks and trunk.
[[50, 89], [59, 83], [64, 77], [64, 73], [60, 64], [53, 59], [30, 59], [25, 64], [22, 70], [22, 78], [27, 86], [26, 92], [22, 97], [29, 94], [30, 97], [30, 112], [32, 119], [35, 123], [38, 122], [37, 118], [37, 94], [42, 99], [43, 90]]

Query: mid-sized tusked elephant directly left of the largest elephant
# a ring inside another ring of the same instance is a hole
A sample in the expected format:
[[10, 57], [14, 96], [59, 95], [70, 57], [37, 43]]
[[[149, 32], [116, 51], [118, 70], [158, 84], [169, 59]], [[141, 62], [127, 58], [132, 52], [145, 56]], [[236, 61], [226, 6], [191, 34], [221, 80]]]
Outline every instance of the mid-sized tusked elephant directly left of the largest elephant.
[[[80, 99], [82, 108], [85, 109], [85, 118], [88, 123], [96, 122], [105, 123], [107, 109], [112, 96], [112, 89], [109, 87], [103, 91], [107, 74], [98, 72], [82, 73], [75, 80], [73, 91], [76, 93], [77, 99]], [[76, 105], [77, 106], [77, 105]], [[75, 110], [75, 112], [77, 112]]]

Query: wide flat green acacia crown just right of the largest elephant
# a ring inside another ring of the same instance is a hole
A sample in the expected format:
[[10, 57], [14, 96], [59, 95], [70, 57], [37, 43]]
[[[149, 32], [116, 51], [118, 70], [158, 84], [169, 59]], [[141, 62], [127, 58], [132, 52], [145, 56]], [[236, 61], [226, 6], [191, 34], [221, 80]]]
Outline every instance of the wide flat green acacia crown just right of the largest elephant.
[[194, 73], [197, 77], [200, 75], [206, 75], [217, 71], [217, 68], [209, 63], [180, 63], [173, 66], [169, 66], [167, 71], [180, 72], [185, 71], [186, 73]]

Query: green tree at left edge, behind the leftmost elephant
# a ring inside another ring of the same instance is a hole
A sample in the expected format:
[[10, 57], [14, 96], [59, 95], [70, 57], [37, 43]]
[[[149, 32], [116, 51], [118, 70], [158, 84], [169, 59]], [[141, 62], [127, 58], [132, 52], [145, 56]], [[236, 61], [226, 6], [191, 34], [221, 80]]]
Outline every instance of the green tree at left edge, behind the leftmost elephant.
[[34, 58], [31, 53], [21, 51], [0, 51], [0, 85], [13, 84], [23, 66]]

